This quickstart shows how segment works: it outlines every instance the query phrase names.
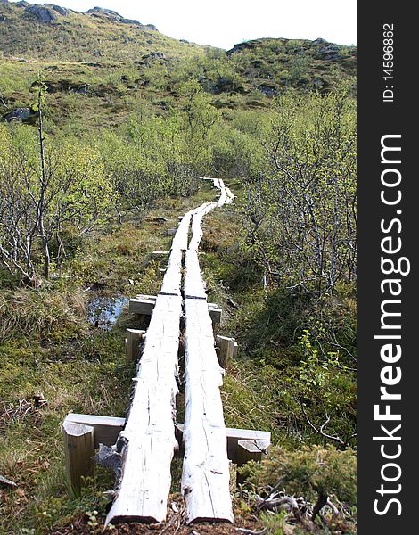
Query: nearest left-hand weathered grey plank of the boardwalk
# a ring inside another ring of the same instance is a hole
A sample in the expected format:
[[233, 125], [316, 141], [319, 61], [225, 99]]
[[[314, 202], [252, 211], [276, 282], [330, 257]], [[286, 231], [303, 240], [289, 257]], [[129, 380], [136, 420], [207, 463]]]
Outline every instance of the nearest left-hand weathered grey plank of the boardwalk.
[[119, 435], [122, 477], [106, 523], [166, 518], [174, 432], [180, 296], [157, 296], [127, 424]]

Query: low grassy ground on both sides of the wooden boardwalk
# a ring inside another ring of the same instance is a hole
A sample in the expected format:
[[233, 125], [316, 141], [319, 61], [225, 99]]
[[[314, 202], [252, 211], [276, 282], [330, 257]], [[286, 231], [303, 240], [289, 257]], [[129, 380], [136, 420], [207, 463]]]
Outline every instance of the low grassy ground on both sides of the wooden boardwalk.
[[[325, 445], [303, 407], [317, 425], [328, 412], [331, 432], [346, 440], [355, 387], [354, 372], [344, 367], [354, 365], [346, 353], [328, 355], [327, 337], [333, 333], [342, 347], [353, 350], [353, 292], [341, 288], [325, 302], [313, 302], [273, 284], [264, 288], [263, 273], [240, 241], [241, 181], [226, 183], [238, 199], [204, 219], [200, 255], [209, 301], [223, 309], [217, 333], [239, 343], [222, 387], [226, 426], [270, 431], [273, 444], [287, 450]], [[140, 218], [75, 239], [67, 259], [54, 267], [52, 281], [38, 290], [0, 276], [0, 473], [19, 485], [0, 490], [0, 533], [58, 533], [75, 518], [102, 523], [113, 475], [99, 468], [81, 497], [71, 498], [61, 423], [69, 411], [125, 415], [135, 369], [125, 363], [124, 330], [139, 325], [123, 309], [111, 330], [95, 327], [87, 322], [86, 307], [95, 296], [158, 292], [164, 260], [153, 259], [152, 251], [168, 249], [168, 228], [177, 226], [186, 210], [217, 196], [205, 183], [190, 198], [164, 199]], [[45, 403], [37, 404], [39, 395]], [[353, 440], [349, 444], [355, 446]], [[181, 465], [180, 459], [173, 464], [174, 492]], [[249, 496], [234, 503], [238, 514], [254, 506]], [[268, 532], [289, 525], [277, 516], [277, 521], [267, 516]]]

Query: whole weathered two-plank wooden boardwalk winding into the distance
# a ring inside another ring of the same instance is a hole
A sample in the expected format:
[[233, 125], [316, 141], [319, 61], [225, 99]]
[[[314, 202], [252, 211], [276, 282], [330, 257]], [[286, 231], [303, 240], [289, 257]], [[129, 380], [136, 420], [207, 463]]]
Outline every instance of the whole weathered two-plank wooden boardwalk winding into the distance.
[[[182, 218], [174, 236], [168, 269], [152, 310], [143, 356], [125, 429], [119, 433], [121, 477], [106, 523], [141, 520], [160, 523], [166, 518], [170, 464], [177, 443], [175, 416], [177, 352], [180, 319], [185, 314], [185, 459], [182, 491], [187, 522], [233, 522], [229, 493], [226, 428], [219, 393], [222, 369], [214, 347], [198, 247], [202, 218], [232, 202], [234, 195], [222, 180], [217, 202], [206, 202]], [[189, 228], [192, 236], [188, 243]], [[182, 268], [185, 252], [185, 281]], [[185, 300], [182, 299], [185, 296]]]

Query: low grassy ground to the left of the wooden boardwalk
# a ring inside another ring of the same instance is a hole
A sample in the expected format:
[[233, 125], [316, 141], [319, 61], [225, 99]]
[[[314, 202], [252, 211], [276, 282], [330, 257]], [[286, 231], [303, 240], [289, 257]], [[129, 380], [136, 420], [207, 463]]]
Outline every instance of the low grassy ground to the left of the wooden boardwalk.
[[165, 261], [152, 251], [168, 249], [178, 216], [215, 198], [205, 185], [193, 198], [164, 199], [140, 218], [75, 239], [37, 290], [1, 274], [0, 473], [18, 488], [0, 490], [0, 533], [45, 533], [89, 511], [103, 515], [113, 475], [99, 467], [71, 498], [61, 423], [70, 411], [126, 414], [136, 371], [125, 362], [124, 332], [136, 324], [123, 309], [111, 330], [95, 327], [86, 308], [95, 297], [159, 292]]

